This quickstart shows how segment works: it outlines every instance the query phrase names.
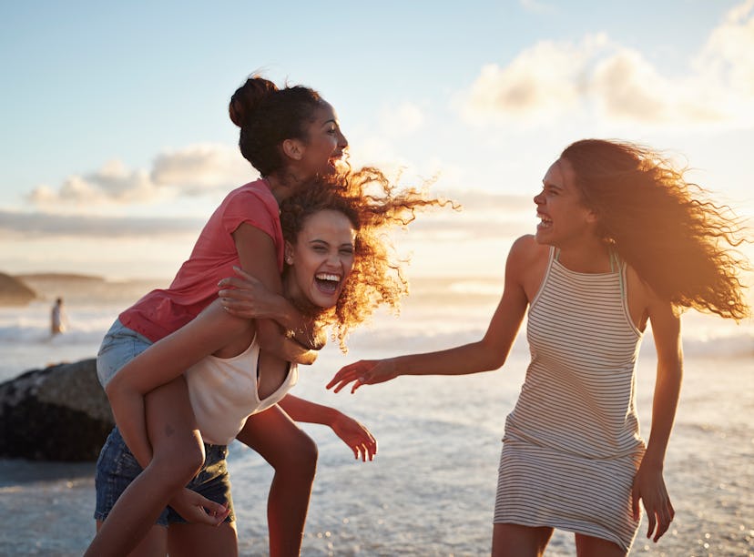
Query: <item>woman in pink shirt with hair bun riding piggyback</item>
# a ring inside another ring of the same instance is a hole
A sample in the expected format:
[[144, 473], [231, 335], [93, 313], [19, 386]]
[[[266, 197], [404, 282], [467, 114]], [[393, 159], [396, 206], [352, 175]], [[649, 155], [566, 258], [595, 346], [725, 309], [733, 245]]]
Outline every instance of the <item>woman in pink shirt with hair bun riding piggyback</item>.
[[[229, 193], [168, 289], [148, 293], [120, 314], [97, 356], [103, 386], [127, 360], [195, 319], [217, 299], [219, 279], [231, 275], [234, 267], [278, 295], [269, 301], [274, 320], [257, 322], [261, 349], [281, 360], [311, 363], [316, 357], [312, 349], [321, 348], [312, 319], [280, 296], [284, 244], [279, 203], [311, 186], [313, 177], [333, 172], [348, 141], [332, 106], [316, 91], [303, 86], [279, 89], [260, 76], [250, 77], [231, 97], [229, 116], [240, 127], [241, 154], [261, 177]], [[107, 522], [99, 524], [89, 555], [129, 552], [150, 531], [166, 502], [189, 522], [218, 524], [227, 513], [222, 505], [192, 491], [179, 491], [205, 457], [184, 378], [150, 391], [143, 409], [132, 415], [143, 419], [117, 426], [145, 470], [117, 500]], [[301, 538], [309, 491], [300, 487], [308, 482], [311, 490], [316, 446], [281, 410], [265, 420], [266, 428], [254, 429], [251, 424], [241, 439], [260, 447], [276, 470], [270, 491], [270, 536]], [[280, 443], [285, 451], [267, 449]], [[148, 512], [134, 512], [136, 508]], [[291, 533], [294, 530], [298, 533]]]

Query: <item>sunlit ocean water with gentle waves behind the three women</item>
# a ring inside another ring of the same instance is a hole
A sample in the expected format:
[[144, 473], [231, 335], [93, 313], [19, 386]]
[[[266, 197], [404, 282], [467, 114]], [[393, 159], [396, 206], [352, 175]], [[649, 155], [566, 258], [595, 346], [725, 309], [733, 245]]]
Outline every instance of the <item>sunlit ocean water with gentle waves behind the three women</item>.
[[[117, 313], [158, 280], [37, 279], [46, 298], [0, 308], [0, 381], [61, 361], [92, 358]], [[501, 370], [466, 377], [400, 378], [352, 395], [324, 384], [353, 360], [446, 348], [481, 338], [502, 291], [490, 278], [413, 279], [401, 315], [378, 314], [352, 333], [348, 354], [334, 344], [302, 368], [293, 393], [339, 408], [379, 441], [372, 462], [354, 461], [327, 428], [304, 424], [320, 446], [303, 555], [489, 554], [504, 418], [524, 380], [523, 330]], [[69, 329], [50, 338], [49, 311], [65, 299]], [[642, 523], [631, 555], [754, 555], [754, 322], [684, 316], [685, 378], [667, 451], [676, 509], [656, 544]], [[655, 380], [645, 336], [637, 405], [646, 436]], [[235, 443], [229, 470], [242, 555], [267, 554], [271, 471]], [[94, 463], [0, 460], [0, 554], [80, 555], [95, 524]], [[573, 535], [555, 532], [547, 555], [575, 554]]]

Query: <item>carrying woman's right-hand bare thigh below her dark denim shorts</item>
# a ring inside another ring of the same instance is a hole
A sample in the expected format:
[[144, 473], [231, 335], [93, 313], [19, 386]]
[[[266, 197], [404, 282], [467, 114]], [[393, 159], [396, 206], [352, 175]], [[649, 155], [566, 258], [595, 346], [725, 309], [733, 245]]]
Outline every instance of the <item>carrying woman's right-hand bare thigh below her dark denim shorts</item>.
[[[168, 528], [168, 552], [170, 557], [204, 557], [222, 555], [237, 557], [239, 538], [236, 522], [223, 522], [219, 526], [209, 524], [171, 524]], [[163, 553], [164, 557], [165, 553]]]

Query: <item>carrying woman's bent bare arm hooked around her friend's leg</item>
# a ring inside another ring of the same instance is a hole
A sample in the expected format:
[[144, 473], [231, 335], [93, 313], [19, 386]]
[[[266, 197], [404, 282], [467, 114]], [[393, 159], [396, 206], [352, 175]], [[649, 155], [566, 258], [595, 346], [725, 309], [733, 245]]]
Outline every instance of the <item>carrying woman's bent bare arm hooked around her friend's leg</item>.
[[117, 427], [139, 464], [152, 460], [144, 398], [150, 390], [178, 378], [193, 364], [248, 334], [251, 322], [230, 316], [214, 302], [196, 319], [129, 361], [107, 383], [107, 398]]

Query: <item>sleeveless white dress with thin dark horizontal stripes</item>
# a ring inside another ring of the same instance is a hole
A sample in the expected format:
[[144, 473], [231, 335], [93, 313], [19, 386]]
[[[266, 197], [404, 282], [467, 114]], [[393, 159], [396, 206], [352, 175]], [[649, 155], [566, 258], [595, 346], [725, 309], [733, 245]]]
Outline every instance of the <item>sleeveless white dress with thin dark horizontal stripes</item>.
[[635, 404], [642, 334], [627, 309], [626, 265], [561, 265], [550, 248], [528, 313], [531, 363], [505, 420], [495, 523], [550, 526], [628, 550], [631, 485], [644, 454]]

